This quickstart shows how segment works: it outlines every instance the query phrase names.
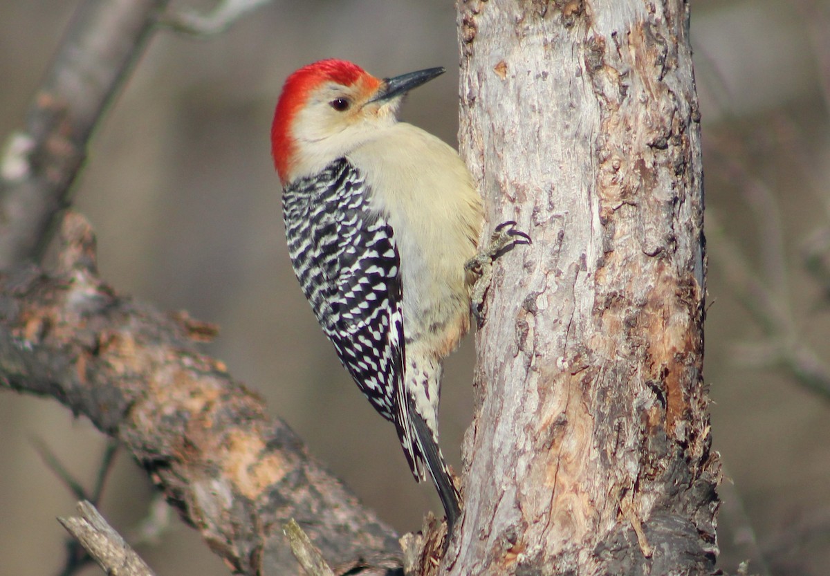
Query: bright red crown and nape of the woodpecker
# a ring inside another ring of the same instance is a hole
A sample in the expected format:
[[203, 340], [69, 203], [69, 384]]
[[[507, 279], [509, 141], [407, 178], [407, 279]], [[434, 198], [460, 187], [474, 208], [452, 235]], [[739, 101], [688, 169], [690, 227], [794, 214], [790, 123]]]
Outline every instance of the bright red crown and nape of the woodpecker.
[[274, 122], [271, 124], [271, 155], [282, 183], [286, 183], [291, 170], [291, 159], [295, 154], [291, 122], [297, 111], [305, 105], [309, 91], [329, 81], [349, 86], [365, 74], [366, 71], [357, 64], [330, 58], [303, 66], [288, 76], [286, 84], [282, 86]]

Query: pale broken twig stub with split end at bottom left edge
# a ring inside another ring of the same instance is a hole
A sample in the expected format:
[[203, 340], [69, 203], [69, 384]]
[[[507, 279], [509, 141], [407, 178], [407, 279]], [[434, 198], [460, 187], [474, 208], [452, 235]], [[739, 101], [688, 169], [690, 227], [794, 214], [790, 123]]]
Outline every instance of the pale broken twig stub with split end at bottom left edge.
[[81, 517], [58, 518], [58, 522], [95, 558], [106, 574], [120, 576], [154, 576], [154, 572], [123, 538], [110, 526], [95, 506], [78, 502]]

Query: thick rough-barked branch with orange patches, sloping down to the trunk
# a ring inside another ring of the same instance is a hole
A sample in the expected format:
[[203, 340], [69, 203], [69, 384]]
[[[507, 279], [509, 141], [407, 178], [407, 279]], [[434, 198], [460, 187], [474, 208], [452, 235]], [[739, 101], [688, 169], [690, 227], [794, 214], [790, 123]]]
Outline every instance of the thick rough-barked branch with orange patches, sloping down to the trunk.
[[393, 530], [199, 354], [215, 329], [100, 281], [76, 214], [63, 240], [57, 271], [0, 276], [0, 390], [56, 398], [117, 438], [234, 574], [301, 574], [282, 532], [291, 518], [332, 564], [400, 572]]

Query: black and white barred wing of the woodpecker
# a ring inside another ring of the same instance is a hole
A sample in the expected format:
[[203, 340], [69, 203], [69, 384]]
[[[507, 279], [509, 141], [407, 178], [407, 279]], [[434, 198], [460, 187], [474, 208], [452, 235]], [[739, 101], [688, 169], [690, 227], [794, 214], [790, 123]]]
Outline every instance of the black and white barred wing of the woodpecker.
[[344, 159], [292, 184], [283, 195], [286, 237], [295, 274], [340, 361], [374, 408], [399, 426], [400, 256], [365, 187]]

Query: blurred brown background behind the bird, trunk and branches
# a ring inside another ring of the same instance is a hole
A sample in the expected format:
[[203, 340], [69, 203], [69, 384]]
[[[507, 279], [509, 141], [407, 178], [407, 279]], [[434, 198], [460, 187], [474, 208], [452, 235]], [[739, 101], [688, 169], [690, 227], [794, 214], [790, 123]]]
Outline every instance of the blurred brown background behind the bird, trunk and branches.
[[[0, 2], [3, 139], [22, 125], [78, 3]], [[823, 576], [830, 400], [769, 360], [793, 339], [819, 359], [830, 351], [830, 290], [803, 265], [809, 247], [819, 263], [830, 260], [822, 236], [830, 226], [830, 4], [704, 1], [692, 11], [712, 214], [706, 380], [715, 448], [734, 482], [721, 515], [722, 568], [734, 571], [756, 539], [769, 555], [751, 570]], [[95, 134], [76, 204], [98, 234], [102, 276], [121, 293], [221, 325], [207, 352], [259, 390], [271, 413], [404, 532], [440, 505], [430, 486], [414, 483], [393, 427], [350, 382], [300, 293], [271, 166], [282, 81], [328, 56], [377, 76], [447, 66], [447, 75], [410, 97], [403, 118], [455, 142], [452, 2], [271, 2], [218, 37], [154, 37]], [[742, 262], [780, 298], [792, 320], [786, 334], [762, 339], [730, 275]], [[471, 417], [471, 344], [448, 363], [442, 396], [442, 443], [455, 466]], [[54, 518], [70, 514], [74, 499], [32, 438], [86, 486], [105, 446], [54, 401], [0, 395], [0, 574], [57, 574], [63, 562], [65, 533]], [[150, 495], [144, 473], [122, 454], [101, 510], [129, 535]], [[139, 551], [159, 574], [227, 574], [178, 520], [159, 544]]]

